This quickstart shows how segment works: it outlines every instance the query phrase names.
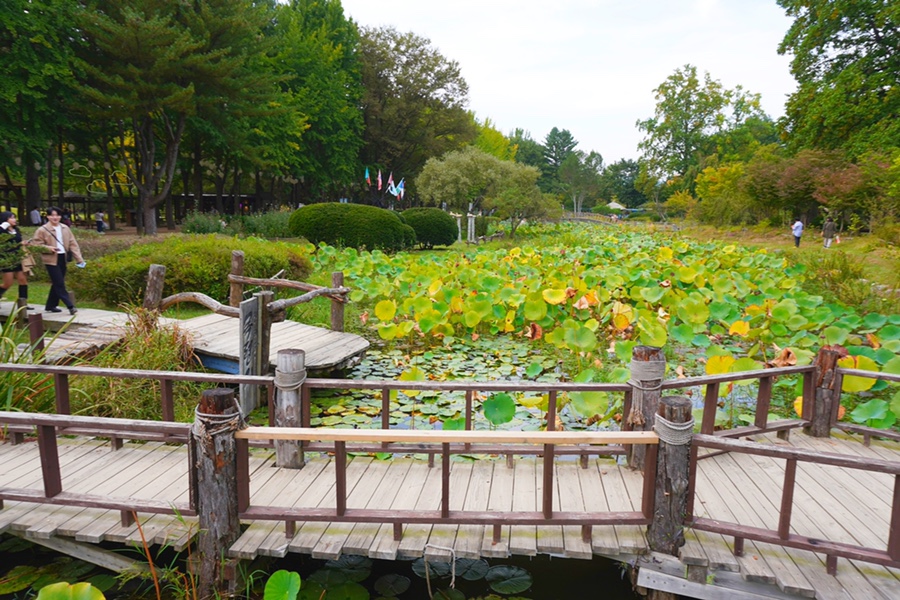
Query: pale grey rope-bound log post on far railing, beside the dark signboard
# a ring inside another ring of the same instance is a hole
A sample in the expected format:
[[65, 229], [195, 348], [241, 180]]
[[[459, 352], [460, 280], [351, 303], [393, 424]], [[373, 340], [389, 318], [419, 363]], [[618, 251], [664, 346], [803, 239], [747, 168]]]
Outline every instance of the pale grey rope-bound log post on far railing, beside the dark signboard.
[[[306, 381], [306, 352], [279, 350], [275, 364], [275, 427], [300, 427], [300, 390]], [[300, 442], [276, 440], [275, 465], [291, 469], [302, 467]]]

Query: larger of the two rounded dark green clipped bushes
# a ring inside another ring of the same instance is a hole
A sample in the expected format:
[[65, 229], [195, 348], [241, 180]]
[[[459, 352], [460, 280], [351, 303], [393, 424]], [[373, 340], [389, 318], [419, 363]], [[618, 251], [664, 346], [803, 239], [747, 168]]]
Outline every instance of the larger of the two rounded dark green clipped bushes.
[[416, 243], [416, 232], [396, 213], [364, 204], [310, 204], [294, 211], [290, 228], [314, 244], [339, 247], [393, 252]]

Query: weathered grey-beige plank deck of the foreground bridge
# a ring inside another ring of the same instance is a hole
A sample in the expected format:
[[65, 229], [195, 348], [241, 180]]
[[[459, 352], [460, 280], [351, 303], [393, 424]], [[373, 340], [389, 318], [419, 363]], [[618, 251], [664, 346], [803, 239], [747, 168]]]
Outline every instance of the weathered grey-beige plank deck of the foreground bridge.
[[[774, 434], [757, 436], [763, 444], [791, 445], [820, 452], [897, 460], [900, 445], [858, 440], [836, 432], [830, 439], [792, 432], [790, 441]], [[187, 456], [183, 447], [155, 442], [128, 443], [111, 452], [108, 443], [92, 439], [59, 440], [63, 488], [67, 492], [114, 497], [187, 501]], [[283, 507], [334, 506], [334, 463], [313, 456], [300, 470], [273, 466], [272, 452], [251, 455], [251, 504]], [[591, 460], [587, 469], [577, 460], [558, 460], [554, 506], [562, 511], [640, 510], [642, 479], [610, 459]], [[502, 460], [454, 461], [451, 467], [451, 510], [539, 510], [542, 462], [517, 458], [513, 468]], [[721, 454], [699, 463], [695, 515], [777, 528], [784, 478], [784, 461], [749, 454]], [[347, 506], [436, 510], [441, 495], [441, 468], [424, 460], [395, 456], [376, 460], [356, 456], [347, 467]], [[42, 489], [37, 444], [0, 444], [0, 489]], [[795, 533], [871, 547], [884, 547], [890, 530], [893, 478], [877, 473], [800, 464], [792, 527]], [[123, 526], [118, 511], [6, 501], [0, 511], [0, 532], [26, 537], [74, 538], [136, 544], [140, 532]], [[153, 544], [182, 548], [196, 532], [194, 519], [141, 515], [143, 535]], [[687, 530], [687, 544], [678, 559], [647, 556], [644, 528], [594, 526], [590, 543], [578, 526], [506, 526], [499, 543], [492, 528], [479, 525], [406, 525], [402, 540], [393, 539], [391, 525], [366, 523], [298, 523], [285, 536], [284, 524], [255, 521], [232, 546], [240, 558], [285, 556], [288, 552], [317, 558], [342, 554], [396, 559], [427, 555], [505, 557], [512, 554], [587, 559], [593, 555], [623, 562], [638, 561], [647, 585], [666, 578], [681, 580], [686, 595], [709, 598], [900, 598], [900, 570], [840, 559], [837, 576], [828, 575], [824, 556], [747, 541], [745, 554], [732, 554], [733, 540]], [[674, 561], [674, 562], [673, 562]], [[708, 567], [715, 586], [684, 580], [686, 570]], [[639, 581], [640, 583], [640, 581]], [[693, 588], [690, 586], [694, 586]], [[700, 586], [700, 587], [697, 587]], [[709, 590], [711, 595], [700, 592]], [[723, 591], [724, 590], [724, 591]], [[731, 591], [728, 591], [731, 590]], [[718, 595], [714, 595], [715, 594]], [[744, 594], [744, 595], [741, 595]], [[755, 594], [755, 595], [753, 595]]]

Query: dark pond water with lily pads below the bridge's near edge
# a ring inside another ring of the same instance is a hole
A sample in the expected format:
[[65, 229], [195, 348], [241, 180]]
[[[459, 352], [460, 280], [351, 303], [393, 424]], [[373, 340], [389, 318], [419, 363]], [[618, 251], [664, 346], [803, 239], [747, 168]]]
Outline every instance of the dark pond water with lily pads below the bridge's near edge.
[[[108, 546], [119, 552], [121, 547]], [[137, 556], [137, 554], [135, 554]], [[171, 552], [155, 557], [158, 568], [183, 570], [181, 558]], [[448, 600], [571, 600], [639, 598], [628, 582], [621, 563], [605, 558], [571, 560], [536, 557], [456, 561], [454, 572], [448, 563], [430, 563], [427, 568], [434, 598]], [[341, 600], [429, 598], [425, 562], [418, 560], [369, 560], [347, 556], [337, 561], [288, 555], [283, 559], [259, 559], [242, 569], [252, 574], [255, 585], [242, 596], [261, 598], [268, 575], [279, 569], [295, 571], [303, 580], [299, 600], [319, 600], [324, 596]], [[34, 597], [35, 589], [56, 581], [90, 581], [101, 587], [107, 598], [155, 598], [152, 584], [132, 581], [124, 589], [112, 573], [88, 563], [57, 554], [18, 538], [0, 536], [0, 600]], [[24, 577], [23, 577], [24, 576]], [[454, 584], [451, 588], [451, 581]], [[19, 585], [14, 585], [16, 582]], [[11, 585], [11, 583], [13, 585]], [[163, 597], [177, 600], [171, 587]]]

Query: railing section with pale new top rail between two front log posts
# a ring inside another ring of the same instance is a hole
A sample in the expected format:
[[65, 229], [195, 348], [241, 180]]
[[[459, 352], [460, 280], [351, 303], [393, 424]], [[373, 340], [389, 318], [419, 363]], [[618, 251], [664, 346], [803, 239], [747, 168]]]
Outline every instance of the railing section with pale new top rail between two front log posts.
[[[553, 506], [554, 461], [558, 446], [608, 446], [641, 444], [655, 446], [659, 438], [652, 432], [586, 431], [414, 431], [372, 429], [325, 429], [249, 427], [235, 434], [238, 440], [238, 498], [242, 518], [284, 521], [287, 535], [293, 535], [297, 521], [349, 521], [390, 523], [399, 540], [404, 523], [445, 523], [492, 525], [494, 541], [499, 541], [503, 525], [580, 525], [585, 541], [591, 539], [593, 525], [647, 525], [653, 516], [653, 490], [656, 477], [656, 453], [648, 452], [644, 468], [642, 509], [637, 511], [559, 512]], [[336, 497], [334, 508], [293, 508], [253, 506], [250, 504], [250, 441], [292, 440], [329, 442], [334, 448]], [[440, 509], [375, 510], [347, 507], [348, 445], [375, 444], [395, 451], [421, 453], [435, 444], [441, 456]], [[450, 510], [450, 462], [454, 454], [494, 454], [498, 446], [534, 445], [543, 456], [542, 500], [540, 511], [454, 511]], [[405, 447], [405, 448], [401, 448]], [[595, 449], [597, 454], [605, 451]]]

